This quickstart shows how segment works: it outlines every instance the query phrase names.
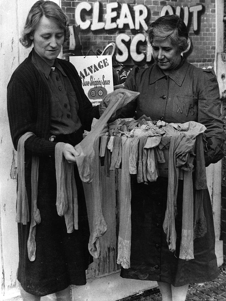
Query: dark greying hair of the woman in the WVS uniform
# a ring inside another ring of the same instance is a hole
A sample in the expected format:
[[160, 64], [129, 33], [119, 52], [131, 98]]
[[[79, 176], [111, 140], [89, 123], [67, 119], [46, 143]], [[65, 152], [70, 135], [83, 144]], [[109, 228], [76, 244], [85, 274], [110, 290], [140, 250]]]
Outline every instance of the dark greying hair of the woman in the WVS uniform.
[[147, 33], [151, 45], [153, 39], [163, 41], [168, 38], [179, 52], [184, 52], [189, 47], [187, 27], [177, 15], [159, 17], [151, 23]]

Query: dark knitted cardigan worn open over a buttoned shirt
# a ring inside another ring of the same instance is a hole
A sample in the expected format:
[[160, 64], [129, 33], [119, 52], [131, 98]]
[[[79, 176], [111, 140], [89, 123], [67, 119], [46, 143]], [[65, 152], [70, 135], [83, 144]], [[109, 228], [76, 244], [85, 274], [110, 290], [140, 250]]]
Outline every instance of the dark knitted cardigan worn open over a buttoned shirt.
[[[90, 130], [92, 119], [99, 118], [98, 106], [93, 107], [85, 95], [82, 82], [75, 67], [68, 61], [57, 59], [68, 76], [79, 103], [78, 116], [82, 130]], [[50, 92], [41, 75], [33, 65], [31, 52], [17, 67], [7, 87], [7, 110], [13, 145], [17, 150], [21, 135], [30, 131], [36, 136], [25, 142], [25, 149], [38, 156], [54, 154], [55, 144], [49, 141]]]

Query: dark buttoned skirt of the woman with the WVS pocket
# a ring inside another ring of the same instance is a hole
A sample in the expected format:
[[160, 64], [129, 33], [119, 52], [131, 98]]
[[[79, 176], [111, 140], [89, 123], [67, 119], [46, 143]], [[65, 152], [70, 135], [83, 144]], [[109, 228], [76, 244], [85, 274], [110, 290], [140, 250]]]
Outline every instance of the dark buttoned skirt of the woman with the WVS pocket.
[[207, 223], [204, 237], [194, 240], [194, 259], [179, 259], [183, 181], [179, 180], [175, 220], [176, 251], [169, 251], [163, 221], [167, 202], [168, 179], [159, 177], [148, 185], [137, 183], [131, 176], [131, 267], [121, 269], [121, 277], [152, 280], [182, 286], [212, 281], [219, 275], [215, 256], [215, 233], [208, 189], [204, 190], [203, 207]]

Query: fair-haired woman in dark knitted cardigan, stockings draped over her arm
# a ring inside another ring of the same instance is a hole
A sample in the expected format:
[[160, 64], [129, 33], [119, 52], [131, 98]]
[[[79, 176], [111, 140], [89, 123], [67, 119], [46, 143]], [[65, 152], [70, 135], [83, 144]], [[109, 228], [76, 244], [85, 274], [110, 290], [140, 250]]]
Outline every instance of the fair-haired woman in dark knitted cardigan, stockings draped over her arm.
[[33, 155], [39, 157], [37, 206], [41, 222], [36, 225], [34, 261], [29, 260], [27, 251], [30, 222], [18, 223], [17, 279], [24, 301], [40, 300], [51, 293], [56, 293], [56, 300], [70, 300], [70, 284], [86, 284], [85, 270], [92, 262], [85, 198], [76, 167], [79, 230], [67, 233], [64, 217], [56, 209], [55, 146], [64, 142], [63, 155], [74, 163], [73, 146], [82, 140], [84, 129], [91, 129], [92, 119], [100, 116], [98, 106], [93, 107], [86, 97], [74, 66], [57, 58], [68, 36], [68, 17], [61, 8], [51, 1], [36, 2], [20, 39], [23, 46], [33, 44], [34, 48], [8, 84], [8, 118], [15, 149], [22, 135], [34, 134], [24, 143], [30, 216], [31, 161]]

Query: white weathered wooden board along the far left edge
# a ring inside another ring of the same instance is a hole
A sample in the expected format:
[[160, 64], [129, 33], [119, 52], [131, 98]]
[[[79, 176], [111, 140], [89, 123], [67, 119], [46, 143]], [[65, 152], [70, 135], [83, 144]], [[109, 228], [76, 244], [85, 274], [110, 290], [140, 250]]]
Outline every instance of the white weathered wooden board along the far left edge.
[[8, 126], [6, 91], [18, 66], [17, 3], [0, 1], [0, 273], [1, 296], [14, 292], [18, 264], [16, 204], [16, 155]]

